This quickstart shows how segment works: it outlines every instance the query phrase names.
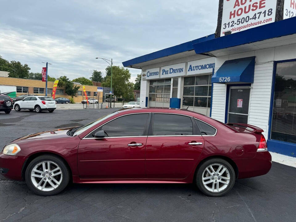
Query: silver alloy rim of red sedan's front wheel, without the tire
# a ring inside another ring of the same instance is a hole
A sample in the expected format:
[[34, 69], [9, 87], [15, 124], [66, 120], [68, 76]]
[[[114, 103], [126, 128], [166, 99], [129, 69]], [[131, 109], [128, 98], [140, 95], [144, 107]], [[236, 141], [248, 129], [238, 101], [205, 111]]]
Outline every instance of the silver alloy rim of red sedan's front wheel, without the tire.
[[59, 165], [52, 161], [37, 163], [31, 171], [31, 182], [40, 191], [53, 191], [63, 180], [63, 173]]

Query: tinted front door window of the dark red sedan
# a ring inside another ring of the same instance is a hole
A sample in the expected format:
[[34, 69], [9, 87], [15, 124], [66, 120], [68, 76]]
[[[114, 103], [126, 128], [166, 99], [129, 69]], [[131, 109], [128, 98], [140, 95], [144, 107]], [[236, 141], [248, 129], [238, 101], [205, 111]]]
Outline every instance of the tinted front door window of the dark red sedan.
[[148, 113], [119, 117], [102, 126], [108, 137], [142, 136], [144, 133]]

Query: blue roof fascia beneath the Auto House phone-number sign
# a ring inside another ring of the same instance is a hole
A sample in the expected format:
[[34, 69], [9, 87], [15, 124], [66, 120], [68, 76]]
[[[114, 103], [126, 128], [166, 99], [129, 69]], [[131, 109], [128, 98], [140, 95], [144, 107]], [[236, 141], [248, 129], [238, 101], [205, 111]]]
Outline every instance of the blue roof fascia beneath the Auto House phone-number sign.
[[269, 23], [193, 45], [196, 54], [296, 34], [296, 17]]

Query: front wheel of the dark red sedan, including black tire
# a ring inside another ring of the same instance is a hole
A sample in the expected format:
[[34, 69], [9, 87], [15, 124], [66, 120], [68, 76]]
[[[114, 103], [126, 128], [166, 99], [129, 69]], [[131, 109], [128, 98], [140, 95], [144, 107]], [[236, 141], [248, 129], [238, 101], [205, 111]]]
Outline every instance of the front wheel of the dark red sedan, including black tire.
[[56, 195], [69, 183], [70, 172], [65, 162], [53, 155], [42, 155], [33, 159], [25, 173], [27, 186], [35, 194]]

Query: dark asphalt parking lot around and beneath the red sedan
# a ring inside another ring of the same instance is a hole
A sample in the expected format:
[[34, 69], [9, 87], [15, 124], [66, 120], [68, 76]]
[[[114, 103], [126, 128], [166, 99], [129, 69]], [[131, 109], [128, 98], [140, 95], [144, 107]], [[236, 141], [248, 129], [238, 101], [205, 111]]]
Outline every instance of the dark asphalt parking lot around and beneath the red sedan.
[[[84, 125], [117, 109], [0, 112], [0, 147], [43, 130]], [[273, 162], [267, 175], [237, 180], [220, 198], [192, 184], [70, 184], [61, 194], [33, 194], [0, 176], [2, 221], [295, 221], [296, 168]]]

